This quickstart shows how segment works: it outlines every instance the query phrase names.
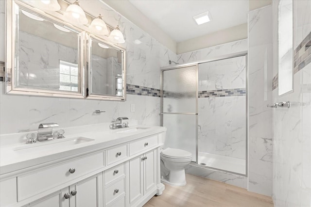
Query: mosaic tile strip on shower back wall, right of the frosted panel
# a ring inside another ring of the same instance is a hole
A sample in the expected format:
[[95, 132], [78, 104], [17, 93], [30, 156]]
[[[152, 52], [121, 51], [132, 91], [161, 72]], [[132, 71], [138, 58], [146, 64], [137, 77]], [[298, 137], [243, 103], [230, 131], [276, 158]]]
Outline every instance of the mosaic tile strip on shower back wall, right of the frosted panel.
[[199, 98], [246, 96], [246, 88], [219, 89], [211, 91], [199, 91]]

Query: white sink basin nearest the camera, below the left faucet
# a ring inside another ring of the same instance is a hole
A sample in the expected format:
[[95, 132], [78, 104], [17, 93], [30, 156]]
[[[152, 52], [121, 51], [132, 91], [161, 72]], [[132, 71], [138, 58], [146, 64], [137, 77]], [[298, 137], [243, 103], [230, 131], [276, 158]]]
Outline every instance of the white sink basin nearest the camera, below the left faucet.
[[85, 138], [85, 137], [73, 137], [73, 138], [64, 138], [64, 139], [58, 139], [58, 140], [51, 140], [51, 141], [45, 141], [45, 142], [36, 142], [33, 144], [25, 144], [23, 146], [19, 146], [14, 148], [14, 151], [18, 152], [37, 152], [37, 151], [43, 151], [43, 150], [49, 150], [51, 148], [58, 148], [63, 146], [72, 146], [80, 143], [86, 143], [94, 141], [93, 139]]

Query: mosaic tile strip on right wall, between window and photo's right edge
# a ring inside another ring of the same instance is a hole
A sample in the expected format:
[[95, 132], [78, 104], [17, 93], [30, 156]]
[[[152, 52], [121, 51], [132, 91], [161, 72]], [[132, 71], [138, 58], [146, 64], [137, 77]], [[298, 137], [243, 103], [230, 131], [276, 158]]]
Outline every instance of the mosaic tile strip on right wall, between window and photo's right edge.
[[311, 32], [294, 50], [294, 74], [311, 63]]

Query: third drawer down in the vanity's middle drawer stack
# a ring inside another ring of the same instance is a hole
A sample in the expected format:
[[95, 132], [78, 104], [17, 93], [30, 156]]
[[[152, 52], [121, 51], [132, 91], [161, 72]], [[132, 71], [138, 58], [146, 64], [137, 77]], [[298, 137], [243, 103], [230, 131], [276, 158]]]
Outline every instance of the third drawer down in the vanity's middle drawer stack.
[[105, 189], [105, 203], [109, 203], [124, 195], [124, 179], [119, 180], [115, 184]]

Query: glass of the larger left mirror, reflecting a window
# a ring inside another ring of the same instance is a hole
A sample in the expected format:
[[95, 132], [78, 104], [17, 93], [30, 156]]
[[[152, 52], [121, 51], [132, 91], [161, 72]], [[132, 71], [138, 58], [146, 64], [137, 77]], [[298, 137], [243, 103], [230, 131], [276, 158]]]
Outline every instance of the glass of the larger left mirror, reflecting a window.
[[16, 10], [15, 87], [79, 92], [79, 35], [64, 25]]

